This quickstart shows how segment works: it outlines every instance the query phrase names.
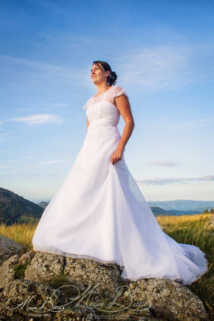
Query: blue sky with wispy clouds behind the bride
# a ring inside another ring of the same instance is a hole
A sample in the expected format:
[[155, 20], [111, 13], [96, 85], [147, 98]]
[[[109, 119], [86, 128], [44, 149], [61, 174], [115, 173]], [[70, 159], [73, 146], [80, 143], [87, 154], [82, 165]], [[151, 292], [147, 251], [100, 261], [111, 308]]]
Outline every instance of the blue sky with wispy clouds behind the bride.
[[2, 0], [0, 24], [0, 187], [53, 197], [103, 60], [129, 95], [125, 161], [146, 201], [214, 200], [213, 1]]

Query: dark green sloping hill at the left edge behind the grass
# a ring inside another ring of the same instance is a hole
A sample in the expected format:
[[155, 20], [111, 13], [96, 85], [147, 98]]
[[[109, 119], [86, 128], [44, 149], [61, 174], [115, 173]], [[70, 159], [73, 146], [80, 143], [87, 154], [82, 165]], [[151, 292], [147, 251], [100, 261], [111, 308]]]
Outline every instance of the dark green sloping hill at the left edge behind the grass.
[[31, 217], [37, 221], [43, 212], [41, 206], [0, 187], [0, 222], [10, 225], [15, 222], [28, 222]]

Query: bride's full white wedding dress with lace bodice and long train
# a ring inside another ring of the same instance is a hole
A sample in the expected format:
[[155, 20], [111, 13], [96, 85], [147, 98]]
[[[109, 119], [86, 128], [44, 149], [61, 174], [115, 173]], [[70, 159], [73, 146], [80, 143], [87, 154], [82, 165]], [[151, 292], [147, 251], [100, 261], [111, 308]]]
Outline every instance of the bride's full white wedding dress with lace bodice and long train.
[[116, 164], [110, 161], [121, 138], [120, 112], [113, 104], [121, 94], [127, 96], [113, 86], [84, 105], [90, 125], [83, 146], [42, 214], [33, 249], [116, 263], [121, 280], [164, 278], [191, 284], [208, 270], [205, 253], [161, 230], [124, 152]]

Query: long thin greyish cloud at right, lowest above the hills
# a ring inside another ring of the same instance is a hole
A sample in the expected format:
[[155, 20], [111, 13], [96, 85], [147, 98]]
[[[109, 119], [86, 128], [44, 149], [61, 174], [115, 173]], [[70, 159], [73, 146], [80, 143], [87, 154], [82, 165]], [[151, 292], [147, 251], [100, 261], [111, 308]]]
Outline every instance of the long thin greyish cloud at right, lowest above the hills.
[[191, 181], [213, 181], [214, 180], [214, 175], [210, 176], [201, 176], [201, 177], [161, 177], [161, 178], [143, 178], [143, 179], [136, 179], [137, 183], [144, 184], [144, 185], [166, 185], [170, 183], [175, 183], [175, 182], [181, 182], [181, 183], [188, 183]]

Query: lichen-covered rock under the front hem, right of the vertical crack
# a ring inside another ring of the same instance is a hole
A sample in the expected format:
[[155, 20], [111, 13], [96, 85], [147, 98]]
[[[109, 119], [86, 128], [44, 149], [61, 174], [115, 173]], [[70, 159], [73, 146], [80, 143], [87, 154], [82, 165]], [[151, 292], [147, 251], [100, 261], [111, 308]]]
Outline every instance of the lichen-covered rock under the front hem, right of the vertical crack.
[[[93, 291], [97, 300], [103, 296], [104, 299], [112, 301], [120, 285], [120, 271], [116, 264], [101, 263], [93, 259], [66, 257], [64, 275], [70, 284], [75, 285], [81, 292], [87, 288]], [[91, 300], [93, 293], [90, 296]]]

